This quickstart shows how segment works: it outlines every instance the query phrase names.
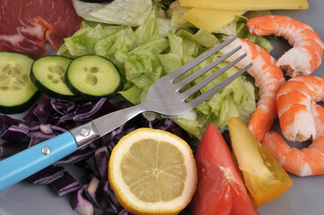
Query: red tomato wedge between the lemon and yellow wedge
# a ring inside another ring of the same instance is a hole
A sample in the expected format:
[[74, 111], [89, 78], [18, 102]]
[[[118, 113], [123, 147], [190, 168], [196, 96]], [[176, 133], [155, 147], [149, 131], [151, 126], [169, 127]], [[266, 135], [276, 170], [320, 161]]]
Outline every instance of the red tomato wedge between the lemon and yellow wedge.
[[215, 125], [207, 127], [195, 159], [198, 181], [190, 204], [193, 215], [258, 214], [231, 151]]

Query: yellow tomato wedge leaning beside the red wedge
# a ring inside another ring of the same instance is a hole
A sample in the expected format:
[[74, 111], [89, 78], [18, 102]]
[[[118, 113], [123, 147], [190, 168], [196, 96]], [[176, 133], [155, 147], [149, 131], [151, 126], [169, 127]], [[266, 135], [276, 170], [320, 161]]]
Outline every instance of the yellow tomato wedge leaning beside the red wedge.
[[293, 180], [258, 142], [239, 117], [228, 120], [232, 150], [251, 198], [257, 207], [270, 202], [292, 185]]

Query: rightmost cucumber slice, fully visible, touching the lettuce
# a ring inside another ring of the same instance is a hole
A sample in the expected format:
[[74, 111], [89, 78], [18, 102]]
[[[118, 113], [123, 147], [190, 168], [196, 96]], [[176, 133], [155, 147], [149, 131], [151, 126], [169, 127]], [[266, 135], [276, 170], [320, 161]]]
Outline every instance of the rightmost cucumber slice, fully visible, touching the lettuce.
[[123, 88], [120, 73], [107, 58], [79, 56], [74, 58], [66, 71], [66, 85], [87, 99], [113, 98]]

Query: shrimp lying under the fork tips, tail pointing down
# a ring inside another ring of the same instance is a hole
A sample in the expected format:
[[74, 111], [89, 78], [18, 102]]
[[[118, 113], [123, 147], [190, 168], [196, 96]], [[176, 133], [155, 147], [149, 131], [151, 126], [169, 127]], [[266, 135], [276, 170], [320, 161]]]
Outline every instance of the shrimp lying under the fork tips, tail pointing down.
[[276, 59], [270, 56], [266, 50], [245, 39], [235, 39], [224, 47], [219, 54], [224, 55], [234, 47], [239, 46], [242, 48], [229, 57], [229, 60], [247, 53], [247, 56], [236, 66], [242, 68], [251, 62], [253, 63], [248, 73], [255, 79], [259, 100], [257, 108], [250, 118], [249, 129], [260, 141], [265, 133], [270, 131], [277, 117], [276, 92], [285, 82], [284, 73], [276, 66]]

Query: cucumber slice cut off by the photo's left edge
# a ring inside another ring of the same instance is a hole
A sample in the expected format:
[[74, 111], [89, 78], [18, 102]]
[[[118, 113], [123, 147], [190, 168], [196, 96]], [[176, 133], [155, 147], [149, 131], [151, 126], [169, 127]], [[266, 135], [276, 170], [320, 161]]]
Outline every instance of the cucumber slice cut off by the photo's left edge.
[[39, 90], [30, 79], [30, 56], [0, 52], [0, 112], [17, 114], [26, 110], [39, 97]]

